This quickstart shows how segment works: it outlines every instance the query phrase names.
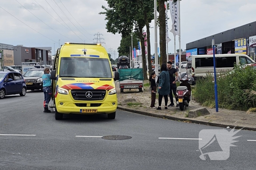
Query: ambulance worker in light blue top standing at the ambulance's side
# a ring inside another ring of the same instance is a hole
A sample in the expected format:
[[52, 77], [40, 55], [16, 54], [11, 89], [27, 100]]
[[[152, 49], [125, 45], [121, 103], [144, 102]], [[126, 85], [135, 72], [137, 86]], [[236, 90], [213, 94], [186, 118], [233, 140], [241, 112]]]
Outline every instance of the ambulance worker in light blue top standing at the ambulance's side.
[[48, 104], [52, 97], [52, 81], [50, 79], [50, 69], [48, 67], [44, 68], [43, 79], [43, 91], [44, 91], [44, 112], [50, 113], [51, 111], [48, 109]]

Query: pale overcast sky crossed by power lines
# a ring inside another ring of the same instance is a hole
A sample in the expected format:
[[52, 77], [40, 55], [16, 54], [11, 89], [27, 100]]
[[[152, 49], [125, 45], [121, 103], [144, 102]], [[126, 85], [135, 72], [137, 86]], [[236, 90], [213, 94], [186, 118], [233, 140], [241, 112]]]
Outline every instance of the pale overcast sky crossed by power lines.
[[[112, 48], [117, 51], [121, 35], [113, 35], [105, 29], [105, 16], [98, 14], [103, 11], [102, 5], [107, 5], [105, 0], [1, 0], [0, 43], [52, 47], [53, 50], [55, 43], [56, 50], [59, 40], [60, 44], [74, 41], [93, 43], [97, 38], [94, 34], [99, 32], [103, 34], [106, 50]], [[255, 9], [255, 0], [182, 0], [181, 48], [184, 50], [186, 43], [191, 41], [256, 21]], [[168, 15], [170, 17], [169, 11]], [[169, 19], [169, 28], [171, 25], [172, 20]], [[154, 26], [154, 20], [151, 26]], [[169, 37], [172, 41], [168, 43], [168, 51], [174, 52], [173, 34], [170, 32]], [[151, 54], [154, 54], [154, 28], [151, 28], [150, 41]], [[177, 49], [178, 36], [176, 44]]]

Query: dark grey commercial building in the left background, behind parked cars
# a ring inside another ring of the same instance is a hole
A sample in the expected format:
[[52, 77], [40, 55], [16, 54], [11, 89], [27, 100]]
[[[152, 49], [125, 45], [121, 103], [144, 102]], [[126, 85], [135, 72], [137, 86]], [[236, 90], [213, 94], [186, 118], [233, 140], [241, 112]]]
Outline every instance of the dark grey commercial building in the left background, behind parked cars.
[[24, 47], [23, 45], [14, 46], [14, 65], [20, 65], [22, 62], [38, 62], [41, 65], [51, 64], [51, 57], [48, 56], [51, 50], [52, 47]]

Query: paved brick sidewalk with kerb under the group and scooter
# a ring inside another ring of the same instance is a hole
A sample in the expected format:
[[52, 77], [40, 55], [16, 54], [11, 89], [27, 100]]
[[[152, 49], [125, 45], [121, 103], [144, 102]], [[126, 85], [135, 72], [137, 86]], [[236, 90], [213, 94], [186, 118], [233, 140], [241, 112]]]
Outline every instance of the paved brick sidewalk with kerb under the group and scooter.
[[[138, 89], [124, 90], [120, 93], [119, 84], [116, 82], [117, 96], [118, 96], [118, 109], [130, 111], [138, 114], [154, 116], [159, 118], [166, 118], [172, 120], [178, 120], [187, 123], [207, 124], [210, 126], [244, 128], [244, 130], [256, 131], [256, 113], [246, 114], [245, 111], [228, 110], [219, 108], [219, 112], [216, 112], [215, 108], [207, 108], [210, 112], [209, 115], [199, 116], [197, 118], [188, 118], [187, 114], [189, 110], [193, 110], [200, 106], [195, 101], [191, 101], [186, 110], [181, 111], [179, 107], [168, 107], [164, 110], [164, 100], [162, 101], [162, 110], [156, 110], [150, 108], [151, 94], [149, 87], [144, 87], [143, 92], [139, 92]], [[132, 99], [134, 102], [124, 104], [124, 100]], [[169, 98], [168, 98], [169, 99]], [[175, 99], [174, 99], [175, 101]], [[122, 104], [123, 103], [123, 104]], [[170, 104], [170, 99], [168, 101]], [[158, 106], [158, 95], [155, 102], [155, 106]]]

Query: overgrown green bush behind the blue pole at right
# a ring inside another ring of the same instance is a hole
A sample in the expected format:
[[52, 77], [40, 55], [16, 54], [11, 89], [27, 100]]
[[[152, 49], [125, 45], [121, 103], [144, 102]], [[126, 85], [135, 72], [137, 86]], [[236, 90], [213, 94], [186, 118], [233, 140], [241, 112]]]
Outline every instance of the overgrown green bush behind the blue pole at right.
[[[248, 110], [256, 108], [256, 69], [235, 66], [230, 72], [217, 74], [218, 104], [220, 108]], [[215, 107], [214, 76], [207, 73], [198, 79], [193, 94], [196, 102]]]

